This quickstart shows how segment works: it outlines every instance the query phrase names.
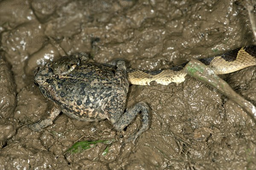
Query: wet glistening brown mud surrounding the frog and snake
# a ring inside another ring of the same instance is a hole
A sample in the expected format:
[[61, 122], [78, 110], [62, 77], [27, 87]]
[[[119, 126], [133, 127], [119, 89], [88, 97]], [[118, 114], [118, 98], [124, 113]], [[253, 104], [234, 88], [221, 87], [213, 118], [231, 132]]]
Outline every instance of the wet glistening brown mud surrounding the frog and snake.
[[[47, 61], [87, 52], [99, 63], [124, 58], [132, 68], [159, 70], [256, 44], [243, 1], [0, 4], [0, 170], [256, 169], [251, 118], [216, 89], [189, 77], [182, 84], [130, 87], [128, 108], [139, 101], [151, 107], [150, 129], [135, 145], [121, 142], [137, 129], [140, 117], [122, 132], [108, 120], [82, 122], [64, 114], [42, 132], [26, 127], [52, 107], [33, 84], [36, 70]], [[256, 104], [255, 66], [222, 78]], [[113, 141], [65, 152], [77, 141], [95, 140]]]

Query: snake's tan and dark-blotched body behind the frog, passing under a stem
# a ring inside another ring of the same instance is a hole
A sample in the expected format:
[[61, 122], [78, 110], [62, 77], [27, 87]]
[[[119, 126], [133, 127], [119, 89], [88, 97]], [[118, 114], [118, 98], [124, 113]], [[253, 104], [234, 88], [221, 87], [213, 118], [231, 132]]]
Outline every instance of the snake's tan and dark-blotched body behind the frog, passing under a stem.
[[[256, 46], [241, 47], [223, 55], [200, 59], [199, 61], [218, 75], [236, 72], [249, 66], [256, 66]], [[172, 82], [182, 83], [187, 75], [184, 72], [186, 65], [187, 63], [184, 63], [171, 69], [158, 71], [127, 69], [128, 80], [131, 84], [137, 85], [150, 85], [152, 82], [163, 85], [168, 85]]]

